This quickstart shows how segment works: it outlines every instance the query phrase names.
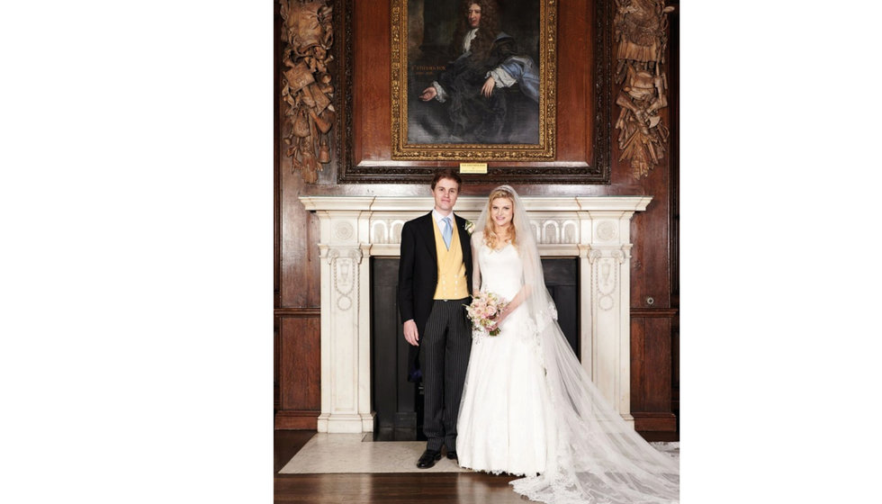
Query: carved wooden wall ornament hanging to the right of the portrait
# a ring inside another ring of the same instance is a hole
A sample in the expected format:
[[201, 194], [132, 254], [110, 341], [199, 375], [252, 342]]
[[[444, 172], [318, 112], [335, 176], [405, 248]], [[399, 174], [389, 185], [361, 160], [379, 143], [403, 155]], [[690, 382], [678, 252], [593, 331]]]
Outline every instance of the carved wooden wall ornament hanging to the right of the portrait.
[[635, 178], [649, 175], [659, 164], [668, 143], [668, 128], [659, 111], [668, 106], [664, 51], [668, 45], [664, 0], [616, 0], [616, 121], [618, 160], [627, 160]]

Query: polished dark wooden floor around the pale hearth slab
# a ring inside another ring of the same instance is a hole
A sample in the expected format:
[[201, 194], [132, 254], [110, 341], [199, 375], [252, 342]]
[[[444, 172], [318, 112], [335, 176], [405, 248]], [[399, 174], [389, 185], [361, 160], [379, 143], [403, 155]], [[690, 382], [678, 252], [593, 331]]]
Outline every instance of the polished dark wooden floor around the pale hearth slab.
[[[315, 431], [276, 430], [275, 502], [311, 504], [412, 503], [524, 504], [511, 490], [513, 476], [484, 473], [279, 474]], [[413, 461], [414, 464], [417, 461]]]

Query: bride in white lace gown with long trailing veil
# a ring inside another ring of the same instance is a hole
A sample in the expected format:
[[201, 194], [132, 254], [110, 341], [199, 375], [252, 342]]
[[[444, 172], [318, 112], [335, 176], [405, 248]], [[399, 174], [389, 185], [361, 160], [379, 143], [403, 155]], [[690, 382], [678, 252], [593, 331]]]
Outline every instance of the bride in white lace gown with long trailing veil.
[[525, 476], [514, 490], [541, 502], [679, 502], [679, 463], [608, 405], [563, 337], [518, 193], [494, 189], [475, 229], [473, 292], [509, 303], [473, 331], [459, 464]]

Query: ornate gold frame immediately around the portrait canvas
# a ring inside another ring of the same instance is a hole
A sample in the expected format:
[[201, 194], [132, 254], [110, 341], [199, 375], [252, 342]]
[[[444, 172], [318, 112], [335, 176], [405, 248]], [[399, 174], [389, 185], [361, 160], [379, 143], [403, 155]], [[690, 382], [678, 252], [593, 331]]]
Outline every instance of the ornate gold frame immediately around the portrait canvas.
[[557, 1], [540, 7], [538, 144], [409, 144], [408, 2], [392, 0], [392, 159], [410, 161], [553, 161], [557, 144]]

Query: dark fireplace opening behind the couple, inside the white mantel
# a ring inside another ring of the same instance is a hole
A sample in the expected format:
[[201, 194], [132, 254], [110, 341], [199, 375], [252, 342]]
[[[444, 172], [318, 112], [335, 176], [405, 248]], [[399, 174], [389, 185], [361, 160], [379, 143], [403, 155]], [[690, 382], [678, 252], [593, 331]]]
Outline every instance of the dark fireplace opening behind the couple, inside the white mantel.
[[[408, 343], [398, 312], [398, 257], [371, 259], [371, 397], [375, 441], [425, 440], [422, 389], [408, 382]], [[570, 346], [579, 347], [579, 262], [575, 257], [542, 260], [545, 285], [557, 305], [558, 322]]]

